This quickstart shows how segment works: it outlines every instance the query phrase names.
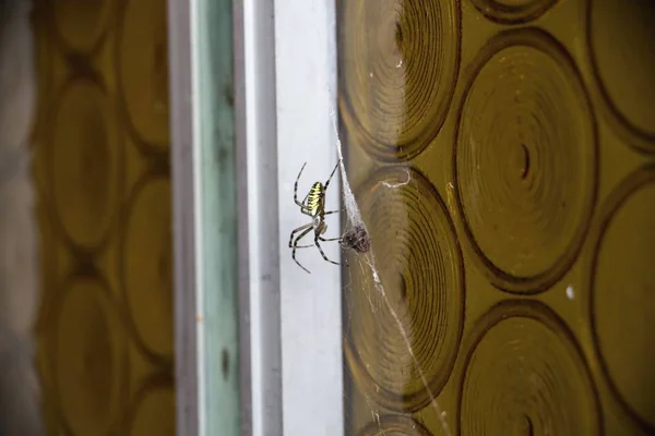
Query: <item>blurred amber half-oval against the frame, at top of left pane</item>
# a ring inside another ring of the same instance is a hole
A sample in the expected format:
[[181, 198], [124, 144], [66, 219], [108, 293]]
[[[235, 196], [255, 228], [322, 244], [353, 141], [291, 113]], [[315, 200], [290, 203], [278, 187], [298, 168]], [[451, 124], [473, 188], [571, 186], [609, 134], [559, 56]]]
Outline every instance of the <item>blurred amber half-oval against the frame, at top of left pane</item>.
[[129, 123], [142, 141], [166, 147], [168, 43], [166, 2], [130, 1], [120, 28], [119, 82]]

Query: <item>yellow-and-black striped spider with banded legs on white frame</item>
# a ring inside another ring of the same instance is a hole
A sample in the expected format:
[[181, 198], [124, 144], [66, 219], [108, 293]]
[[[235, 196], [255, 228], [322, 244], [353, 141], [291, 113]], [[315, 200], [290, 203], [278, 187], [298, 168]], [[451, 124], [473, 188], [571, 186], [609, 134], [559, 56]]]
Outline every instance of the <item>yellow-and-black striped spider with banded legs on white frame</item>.
[[[291, 231], [291, 234], [289, 237], [289, 249], [291, 249], [291, 247], [294, 249], [291, 257], [294, 258], [296, 264], [298, 264], [298, 266], [300, 268], [305, 269], [307, 272], [311, 274], [309, 271], [309, 269], [307, 269], [306, 267], [300, 265], [300, 263], [296, 258], [296, 250], [297, 249], [309, 249], [309, 247], [315, 245], [317, 249], [319, 249], [319, 252], [321, 252], [321, 256], [323, 256], [323, 259], [325, 259], [326, 262], [330, 262], [331, 264], [334, 264], [334, 265], [341, 265], [338, 262], [330, 261], [327, 258], [327, 256], [325, 255], [325, 253], [323, 253], [323, 249], [321, 247], [321, 244], [319, 243], [319, 241], [321, 241], [321, 242], [340, 241], [341, 242], [341, 240], [342, 240], [341, 238], [325, 239], [322, 237], [323, 233], [325, 233], [325, 231], [327, 231], [327, 225], [325, 223], [325, 215], [336, 214], [338, 211], [338, 210], [325, 211], [325, 192], [327, 191], [327, 186], [330, 185], [330, 181], [332, 180], [332, 177], [334, 175], [334, 173], [336, 172], [336, 169], [338, 168], [338, 162], [336, 162], [336, 166], [332, 170], [332, 173], [330, 174], [330, 178], [327, 179], [325, 184], [323, 185], [323, 183], [321, 183], [321, 182], [314, 182], [314, 184], [311, 185], [309, 192], [305, 196], [305, 199], [302, 201], [302, 203], [300, 203], [300, 202], [298, 202], [298, 181], [300, 180], [300, 175], [302, 174], [302, 170], [305, 169], [306, 165], [307, 165], [307, 162], [305, 162], [305, 165], [302, 165], [302, 168], [300, 168], [300, 172], [298, 173], [298, 177], [296, 178], [296, 183], [294, 185], [294, 202], [296, 202], [296, 205], [298, 205], [300, 207], [300, 211], [302, 214], [311, 217], [311, 222], [309, 222], [305, 226], [300, 226], [297, 229], [294, 229]], [[312, 230], [314, 231], [314, 243], [308, 244], [308, 245], [298, 245], [298, 242]], [[298, 232], [301, 232], [301, 233], [294, 240], [294, 235]]]

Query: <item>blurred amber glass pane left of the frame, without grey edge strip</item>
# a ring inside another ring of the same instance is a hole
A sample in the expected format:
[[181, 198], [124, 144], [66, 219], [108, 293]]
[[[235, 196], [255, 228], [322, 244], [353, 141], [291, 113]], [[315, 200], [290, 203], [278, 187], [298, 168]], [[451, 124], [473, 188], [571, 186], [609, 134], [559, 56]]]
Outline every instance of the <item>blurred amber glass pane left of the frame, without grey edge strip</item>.
[[174, 435], [166, 1], [33, 3], [48, 431]]

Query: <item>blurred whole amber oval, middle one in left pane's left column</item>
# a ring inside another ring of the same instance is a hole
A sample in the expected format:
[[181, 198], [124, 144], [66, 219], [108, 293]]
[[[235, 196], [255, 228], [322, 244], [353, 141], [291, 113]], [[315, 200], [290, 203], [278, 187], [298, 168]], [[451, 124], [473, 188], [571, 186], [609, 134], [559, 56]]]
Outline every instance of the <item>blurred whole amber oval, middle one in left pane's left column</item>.
[[52, 120], [48, 173], [53, 204], [69, 242], [95, 250], [107, 238], [120, 187], [112, 110], [91, 80], [62, 89]]

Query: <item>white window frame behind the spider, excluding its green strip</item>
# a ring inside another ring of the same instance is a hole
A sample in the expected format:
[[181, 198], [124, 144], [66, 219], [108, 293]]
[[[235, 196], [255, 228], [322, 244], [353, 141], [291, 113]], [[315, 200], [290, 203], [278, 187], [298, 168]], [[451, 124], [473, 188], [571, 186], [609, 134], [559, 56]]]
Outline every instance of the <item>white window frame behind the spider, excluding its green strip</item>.
[[[210, 436], [213, 411], [204, 390], [212, 368], [203, 348], [212, 332], [196, 322], [207, 292], [199, 284], [204, 225], [196, 219], [202, 166], [194, 100], [203, 89], [194, 87], [193, 11], [201, 1], [210, 0], [169, 0], [168, 22], [177, 433]], [[336, 164], [334, 16], [334, 0], [233, 0], [242, 435], [344, 433], [341, 268], [315, 250], [300, 250], [308, 275], [287, 247], [289, 232], [308, 218], [293, 202], [300, 167], [307, 161], [298, 192], [305, 197]], [[337, 172], [330, 209], [338, 208], [338, 189]], [[332, 217], [330, 237], [341, 233]], [[338, 262], [338, 250], [325, 245]]]

